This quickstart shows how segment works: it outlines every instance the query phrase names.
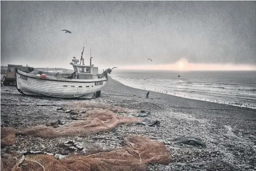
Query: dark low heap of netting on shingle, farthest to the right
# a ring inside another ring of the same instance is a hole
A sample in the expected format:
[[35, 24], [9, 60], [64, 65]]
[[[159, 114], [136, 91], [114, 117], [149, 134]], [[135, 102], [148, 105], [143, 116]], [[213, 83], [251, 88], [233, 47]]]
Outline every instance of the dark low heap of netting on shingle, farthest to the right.
[[196, 138], [196, 137], [192, 137], [192, 136], [181, 136], [175, 139], [171, 140], [172, 142], [174, 142], [173, 144], [187, 144], [187, 145], [195, 145], [195, 146], [202, 146], [202, 147], [206, 147], [205, 142], [202, 141], [202, 139]]

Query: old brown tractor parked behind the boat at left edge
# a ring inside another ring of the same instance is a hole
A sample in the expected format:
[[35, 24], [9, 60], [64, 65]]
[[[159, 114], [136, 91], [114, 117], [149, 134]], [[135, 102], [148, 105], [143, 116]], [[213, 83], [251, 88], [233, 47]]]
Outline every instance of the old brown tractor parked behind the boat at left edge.
[[2, 85], [2, 82], [3, 82], [3, 85], [16, 85], [16, 76], [15, 76], [16, 69], [19, 69], [26, 73], [34, 71], [34, 68], [32, 67], [28, 67], [28, 66], [24, 67], [23, 65], [8, 64], [6, 74], [3, 76], [1, 80], [1, 85]]

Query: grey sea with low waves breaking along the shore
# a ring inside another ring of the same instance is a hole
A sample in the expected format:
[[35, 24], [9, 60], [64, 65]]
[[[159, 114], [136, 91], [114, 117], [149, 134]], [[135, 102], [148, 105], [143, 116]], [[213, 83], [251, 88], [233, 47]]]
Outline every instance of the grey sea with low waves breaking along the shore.
[[117, 69], [110, 77], [123, 85], [146, 91], [256, 109], [256, 71]]

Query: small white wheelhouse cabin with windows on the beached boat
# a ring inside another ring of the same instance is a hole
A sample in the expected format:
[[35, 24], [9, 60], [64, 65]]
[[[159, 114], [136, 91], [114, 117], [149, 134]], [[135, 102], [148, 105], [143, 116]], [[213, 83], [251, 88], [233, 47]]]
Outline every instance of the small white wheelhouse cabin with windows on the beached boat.
[[78, 79], [98, 79], [98, 67], [73, 64]]

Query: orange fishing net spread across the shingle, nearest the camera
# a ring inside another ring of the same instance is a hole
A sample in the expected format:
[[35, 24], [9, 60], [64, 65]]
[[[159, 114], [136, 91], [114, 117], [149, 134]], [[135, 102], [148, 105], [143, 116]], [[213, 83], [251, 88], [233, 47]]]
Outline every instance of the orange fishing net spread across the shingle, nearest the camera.
[[[171, 156], [162, 142], [126, 135], [122, 149], [87, 156], [55, 159], [48, 155], [1, 155], [1, 170], [15, 171], [145, 171], [147, 163], [169, 164]], [[9, 159], [9, 161], [7, 160]]]

